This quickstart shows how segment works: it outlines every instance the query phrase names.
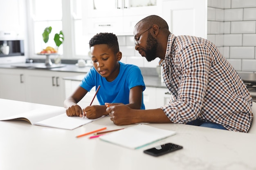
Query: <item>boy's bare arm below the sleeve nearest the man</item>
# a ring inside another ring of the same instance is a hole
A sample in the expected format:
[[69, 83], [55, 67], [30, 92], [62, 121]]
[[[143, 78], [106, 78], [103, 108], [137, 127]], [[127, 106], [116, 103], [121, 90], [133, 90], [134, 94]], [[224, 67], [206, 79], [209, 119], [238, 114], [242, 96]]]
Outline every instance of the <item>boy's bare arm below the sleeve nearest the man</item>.
[[141, 103], [142, 103], [141, 86], [132, 87], [129, 93], [129, 104], [126, 104], [126, 106], [132, 109], [140, 109]]

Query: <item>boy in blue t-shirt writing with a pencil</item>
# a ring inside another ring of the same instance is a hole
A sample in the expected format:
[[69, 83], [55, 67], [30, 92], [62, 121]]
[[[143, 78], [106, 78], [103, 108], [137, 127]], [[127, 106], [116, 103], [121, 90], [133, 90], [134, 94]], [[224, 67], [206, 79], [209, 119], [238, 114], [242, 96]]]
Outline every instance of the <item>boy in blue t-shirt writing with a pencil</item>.
[[[129, 108], [145, 109], [143, 91], [145, 84], [139, 67], [119, 62], [117, 36], [112, 33], [99, 33], [89, 41], [93, 67], [83, 78], [73, 95], [64, 101], [67, 116], [86, 116], [96, 119], [106, 112], [107, 103], [122, 103]], [[77, 103], [92, 87], [101, 86], [97, 93], [99, 105], [87, 106], [83, 110]]]

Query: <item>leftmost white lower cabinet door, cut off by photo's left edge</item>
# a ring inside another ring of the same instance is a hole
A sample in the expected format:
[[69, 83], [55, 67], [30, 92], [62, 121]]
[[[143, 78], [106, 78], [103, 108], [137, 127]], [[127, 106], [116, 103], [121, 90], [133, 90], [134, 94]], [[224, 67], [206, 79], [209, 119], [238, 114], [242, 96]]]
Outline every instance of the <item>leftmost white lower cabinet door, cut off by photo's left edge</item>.
[[0, 69], [0, 98], [26, 101], [23, 69]]

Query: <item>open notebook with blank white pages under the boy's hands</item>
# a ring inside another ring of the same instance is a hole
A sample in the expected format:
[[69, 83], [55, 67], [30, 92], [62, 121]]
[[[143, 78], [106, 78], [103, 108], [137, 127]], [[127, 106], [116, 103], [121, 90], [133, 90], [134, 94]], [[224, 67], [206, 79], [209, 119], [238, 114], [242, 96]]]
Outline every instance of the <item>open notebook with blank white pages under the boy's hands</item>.
[[52, 128], [61, 128], [73, 130], [79, 126], [88, 124], [96, 119], [83, 117], [68, 117], [66, 109], [57, 106], [46, 106], [33, 110], [2, 118], [0, 120], [25, 120], [32, 125], [47, 126]]

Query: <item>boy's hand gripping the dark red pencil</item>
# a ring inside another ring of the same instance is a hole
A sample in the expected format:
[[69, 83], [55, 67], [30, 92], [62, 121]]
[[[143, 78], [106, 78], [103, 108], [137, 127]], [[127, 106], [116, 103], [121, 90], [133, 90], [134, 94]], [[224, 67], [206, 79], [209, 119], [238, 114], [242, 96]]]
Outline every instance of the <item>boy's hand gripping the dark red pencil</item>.
[[88, 119], [97, 119], [103, 115], [108, 115], [106, 113], [106, 106], [92, 105], [83, 109], [83, 116], [86, 116]]

